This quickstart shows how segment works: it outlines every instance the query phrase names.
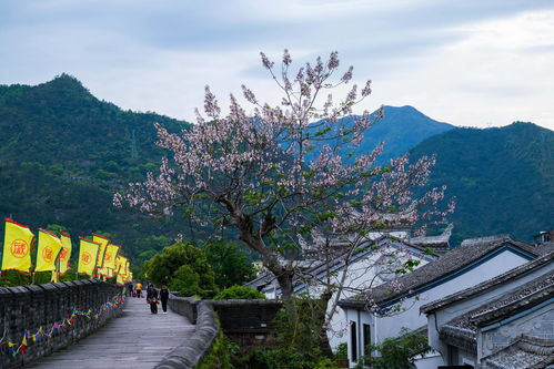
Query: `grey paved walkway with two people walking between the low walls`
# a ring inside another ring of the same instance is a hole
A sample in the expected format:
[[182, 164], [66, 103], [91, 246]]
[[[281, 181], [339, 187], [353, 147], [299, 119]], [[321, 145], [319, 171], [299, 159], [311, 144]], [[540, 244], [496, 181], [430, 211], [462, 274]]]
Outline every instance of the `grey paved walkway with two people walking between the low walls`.
[[120, 318], [52, 356], [39, 359], [33, 369], [153, 368], [194, 332], [194, 326], [172, 312], [150, 312], [145, 298], [128, 298]]

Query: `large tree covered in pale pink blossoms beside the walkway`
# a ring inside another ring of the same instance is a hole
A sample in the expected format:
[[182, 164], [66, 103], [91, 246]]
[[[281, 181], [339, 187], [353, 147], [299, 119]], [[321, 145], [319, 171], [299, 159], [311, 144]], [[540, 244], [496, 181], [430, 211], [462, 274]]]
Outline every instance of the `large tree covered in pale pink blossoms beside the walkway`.
[[[434, 157], [410, 163], [406, 154], [376, 165], [383, 144], [371, 153], [356, 152], [381, 111], [352, 115], [370, 95], [371, 81], [362, 89], [353, 84], [340, 100], [328, 94], [353, 75], [352, 66], [336, 75], [336, 52], [295, 73], [286, 50], [280, 68], [261, 57], [282, 101], [262, 103], [243, 85], [250, 109], [231, 95], [229, 114], [222, 116], [207, 86], [204, 114], [197, 110], [190, 130], [171, 134], [155, 125], [158, 145], [171, 161], [163, 158], [158, 175], [149, 173], [145, 182], [117, 193], [114, 205], [152, 215], [179, 209], [193, 221], [235, 229], [275, 276], [288, 301], [293, 279], [303, 277], [299, 258], [347, 262], [369, 233], [425, 224], [452, 208], [436, 209], [444, 187], [414, 194], [426, 183]], [[346, 242], [330, 247], [330, 239]]]

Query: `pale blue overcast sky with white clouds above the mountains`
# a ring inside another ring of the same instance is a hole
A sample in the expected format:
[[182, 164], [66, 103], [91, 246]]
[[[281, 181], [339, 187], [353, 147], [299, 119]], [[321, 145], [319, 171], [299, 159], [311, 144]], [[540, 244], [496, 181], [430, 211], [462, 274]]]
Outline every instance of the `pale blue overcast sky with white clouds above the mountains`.
[[0, 84], [66, 72], [122, 109], [189, 121], [205, 84], [222, 104], [242, 83], [276, 102], [259, 52], [285, 48], [299, 62], [339, 51], [373, 80], [360, 110], [554, 130], [552, 0], [0, 0]]

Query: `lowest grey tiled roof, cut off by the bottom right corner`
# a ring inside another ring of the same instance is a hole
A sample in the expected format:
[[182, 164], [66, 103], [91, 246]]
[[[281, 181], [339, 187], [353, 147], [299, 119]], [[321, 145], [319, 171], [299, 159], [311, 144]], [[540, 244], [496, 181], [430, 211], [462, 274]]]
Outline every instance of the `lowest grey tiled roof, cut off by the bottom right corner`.
[[542, 369], [554, 363], [554, 340], [523, 335], [483, 362], [491, 369]]

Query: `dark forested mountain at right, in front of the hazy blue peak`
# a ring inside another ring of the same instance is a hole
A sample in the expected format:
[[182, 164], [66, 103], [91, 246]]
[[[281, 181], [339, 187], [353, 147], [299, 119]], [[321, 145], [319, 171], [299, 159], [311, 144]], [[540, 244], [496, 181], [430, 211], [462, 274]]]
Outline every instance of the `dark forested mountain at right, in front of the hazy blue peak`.
[[554, 132], [532, 123], [496, 129], [454, 129], [411, 151], [436, 153], [430, 185], [456, 197], [454, 244], [506, 233], [532, 242], [554, 226]]

